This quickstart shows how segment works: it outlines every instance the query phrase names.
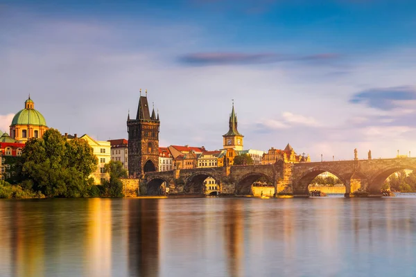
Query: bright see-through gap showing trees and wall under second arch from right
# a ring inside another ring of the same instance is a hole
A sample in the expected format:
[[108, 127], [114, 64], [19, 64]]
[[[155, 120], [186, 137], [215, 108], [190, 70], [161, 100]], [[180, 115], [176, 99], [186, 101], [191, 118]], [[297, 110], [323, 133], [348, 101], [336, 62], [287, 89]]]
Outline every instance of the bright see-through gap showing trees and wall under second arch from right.
[[322, 172], [313, 178], [308, 186], [309, 196], [344, 197], [347, 193], [343, 181], [331, 172]]

